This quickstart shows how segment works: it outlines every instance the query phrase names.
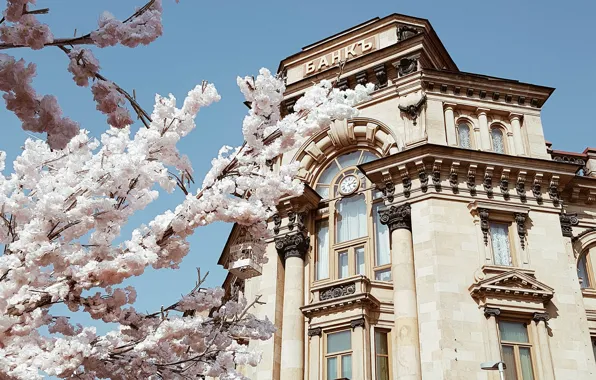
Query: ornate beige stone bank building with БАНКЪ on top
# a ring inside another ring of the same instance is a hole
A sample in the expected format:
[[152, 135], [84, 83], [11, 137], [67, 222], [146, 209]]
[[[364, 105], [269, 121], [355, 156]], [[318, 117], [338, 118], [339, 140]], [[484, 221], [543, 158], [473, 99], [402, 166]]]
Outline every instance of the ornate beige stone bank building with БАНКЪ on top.
[[230, 235], [226, 285], [279, 328], [249, 377], [498, 379], [480, 364], [503, 360], [507, 380], [596, 379], [596, 149], [545, 141], [554, 89], [461, 72], [398, 14], [279, 70], [284, 112], [321, 79], [377, 90], [280, 158], [307, 186], [271, 221], [267, 264]]

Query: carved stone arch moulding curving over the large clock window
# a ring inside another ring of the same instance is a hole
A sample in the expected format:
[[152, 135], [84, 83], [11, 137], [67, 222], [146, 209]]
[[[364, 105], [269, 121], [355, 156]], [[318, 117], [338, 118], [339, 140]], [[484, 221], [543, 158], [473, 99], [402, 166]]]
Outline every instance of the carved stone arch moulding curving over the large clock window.
[[300, 162], [298, 178], [311, 186], [327, 164], [337, 156], [356, 149], [372, 151], [379, 157], [398, 153], [391, 128], [371, 118], [336, 121], [329, 128], [308, 139], [292, 158]]

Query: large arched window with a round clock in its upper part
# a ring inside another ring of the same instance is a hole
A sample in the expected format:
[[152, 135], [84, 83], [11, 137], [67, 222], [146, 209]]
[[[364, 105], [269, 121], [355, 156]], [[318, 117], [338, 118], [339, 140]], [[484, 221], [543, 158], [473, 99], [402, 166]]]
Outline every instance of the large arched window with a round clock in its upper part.
[[315, 189], [323, 197], [316, 221], [314, 281], [355, 275], [391, 279], [389, 231], [380, 223], [382, 199], [356, 165], [378, 157], [357, 150], [333, 159]]

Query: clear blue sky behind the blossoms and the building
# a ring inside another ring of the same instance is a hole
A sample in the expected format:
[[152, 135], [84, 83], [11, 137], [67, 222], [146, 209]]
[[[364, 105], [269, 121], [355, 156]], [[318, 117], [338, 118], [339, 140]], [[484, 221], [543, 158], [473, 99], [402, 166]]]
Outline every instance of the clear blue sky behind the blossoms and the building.
[[[43, 17], [60, 37], [86, 33], [98, 16], [109, 10], [125, 18], [142, 0], [47, 1]], [[220, 103], [201, 111], [198, 129], [181, 145], [189, 155], [200, 183], [221, 145], [241, 143], [240, 127], [246, 112], [236, 86], [237, 75], [272, 71], [279, 61], [303, 46], [376, 16], [402, 13], [429, 19], [460, 70], [517, 79], [555, 87], [544, 106], [546, 138], [555, 149], [583, 151], [596, 146], [596, 50], [593, 1], [198, 1], [163, 0], [164, 36], [148, 47], [96, 49], [102, 74], [151, 110], [155, 93], [173, 93], [181, 101], [201, 80], [214, 82]], [[95, 111], [89, 89], [77, 87], [66, 71], [58, 49], [9, 51], [38, 65], [39, 93], [55, 94], [64, 110], [85, 129], [99, 136], [103, 115]], [[9, 161], [27, 137], [16, 117], [0, 110], [0, 150]], [[135, 128], [138, 128], [137, 125]], [[149, 221], [156, 213], [175, 207], [180, 195], [162, 194], [154, 205], [131, 221], [124, 232]], [[140, 310], [158, 310], [194, 286], [195, 267], [209, 270], [209, 285], [220, 284], [225, 271], [217, 259], [227, 238], [228, 225], [203, 228], [191, 238], [192, 249], [179, 270], [148, 271], [130, 281], [139, 291]], [[87, 318], [80, 317], [82, 321]]]

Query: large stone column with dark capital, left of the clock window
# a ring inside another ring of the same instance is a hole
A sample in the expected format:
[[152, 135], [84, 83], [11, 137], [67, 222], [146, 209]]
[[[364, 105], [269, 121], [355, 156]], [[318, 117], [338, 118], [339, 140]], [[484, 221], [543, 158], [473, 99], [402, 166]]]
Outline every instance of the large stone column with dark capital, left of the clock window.
[[308, 237], [303, 232], [275, 239], [285, 261], [284, 301], [281, 330], [281, 373], [284, 380], [304, 379], [304, 257]]

